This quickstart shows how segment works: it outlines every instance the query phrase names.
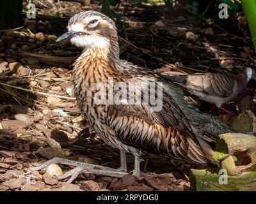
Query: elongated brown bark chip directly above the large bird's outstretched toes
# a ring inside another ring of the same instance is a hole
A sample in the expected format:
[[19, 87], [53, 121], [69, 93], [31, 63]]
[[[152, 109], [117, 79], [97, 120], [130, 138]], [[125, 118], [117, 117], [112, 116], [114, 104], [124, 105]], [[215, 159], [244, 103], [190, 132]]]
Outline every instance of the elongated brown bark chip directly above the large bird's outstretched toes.
[[70, 149], [52, 149], [51, 147], [39, 147], [38, 154], [45, 159], [52, 159], [53, 157], [68, 157], [71, 154]]

